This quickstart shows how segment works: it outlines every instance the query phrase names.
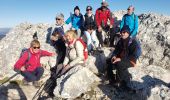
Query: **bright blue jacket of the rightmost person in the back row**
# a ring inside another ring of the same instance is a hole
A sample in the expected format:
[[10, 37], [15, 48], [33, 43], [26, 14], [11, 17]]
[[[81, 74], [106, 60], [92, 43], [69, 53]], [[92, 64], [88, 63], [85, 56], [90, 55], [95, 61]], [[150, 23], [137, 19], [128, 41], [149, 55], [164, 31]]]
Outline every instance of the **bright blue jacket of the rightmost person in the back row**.
[[136, 37], [138, 31], [138, 16], [134, 13], [131, 15], [125, 14], [122, 18], [120, 23], [120, 30], [123, 28], [124, 25], [128, 25], [130, 28], [130, 36]]

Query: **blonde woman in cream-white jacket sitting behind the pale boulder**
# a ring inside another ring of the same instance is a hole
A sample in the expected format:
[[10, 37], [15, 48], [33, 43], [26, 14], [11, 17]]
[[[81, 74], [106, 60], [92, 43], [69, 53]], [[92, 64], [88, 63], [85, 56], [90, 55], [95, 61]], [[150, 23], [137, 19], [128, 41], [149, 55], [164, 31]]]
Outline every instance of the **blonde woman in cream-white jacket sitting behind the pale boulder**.
[[62, 65], [57, 67], [57, 74], [64, 74], [70, 68], [77, 64], [84, 63], [84, 45], [82, 41], [77, 38], [76, 31], [70, 30], [65, 33], [67, 41], [66, 57]]

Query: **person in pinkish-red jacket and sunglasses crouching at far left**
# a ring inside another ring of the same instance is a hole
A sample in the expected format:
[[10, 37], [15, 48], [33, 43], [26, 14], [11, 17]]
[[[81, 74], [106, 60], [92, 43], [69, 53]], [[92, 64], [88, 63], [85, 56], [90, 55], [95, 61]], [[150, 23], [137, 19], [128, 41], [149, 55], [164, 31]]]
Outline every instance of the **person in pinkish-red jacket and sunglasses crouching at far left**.
[[40, 42], [33, 40], [30, 48], [23, 52], [22, 56], [14, 65], [14, 70], [21, 73], [24, 77], [23, 84], [28, 85], [33, 82], [34, 86], [39, 86], [39, 80], [44, 73], [44, 69], [40, 64], [40, 58], [43, 56], [54, 56], [55, 53], [50, 53], [40, 49]]

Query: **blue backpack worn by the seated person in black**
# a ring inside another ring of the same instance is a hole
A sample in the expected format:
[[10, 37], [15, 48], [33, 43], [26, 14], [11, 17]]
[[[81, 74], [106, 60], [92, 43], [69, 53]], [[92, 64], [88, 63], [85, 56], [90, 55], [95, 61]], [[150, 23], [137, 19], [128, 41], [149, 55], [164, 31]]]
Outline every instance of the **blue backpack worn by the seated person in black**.
[[142, 48], [141, 48], [141, 43], [139, 40], [137, 39], [130, 39], [129, 40], [129, 43], [128, 43], [128, 46], [132, 43], [132, 41], [135, 40], [137, 42], [137, 51], [136, 51], [136, 59], [139, 59], [139, 57], [141, 56], [142, 54]]

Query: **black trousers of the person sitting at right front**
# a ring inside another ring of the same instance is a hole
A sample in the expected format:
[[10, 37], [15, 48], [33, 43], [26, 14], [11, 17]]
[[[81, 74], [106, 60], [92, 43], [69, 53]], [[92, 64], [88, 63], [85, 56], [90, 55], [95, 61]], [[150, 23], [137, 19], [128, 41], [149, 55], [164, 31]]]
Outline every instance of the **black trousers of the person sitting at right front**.
[[107, 61], [107, 64], [108, 64], [107, 74], [109, 80], [112, 80], [114, 78], [114, 74], [112, 70], [115, 69], [116, 74], [118, 76], [117, 77], [118, 81], [130, 82], [132, 76], [129, 73], [128, 68], [130, 68], [132, 64], [128, 59], [122, 59], [120, 62], [117, 62], [115, 64], [112, 64], [110, 59], [110, 62]]

